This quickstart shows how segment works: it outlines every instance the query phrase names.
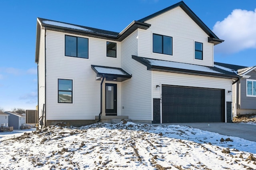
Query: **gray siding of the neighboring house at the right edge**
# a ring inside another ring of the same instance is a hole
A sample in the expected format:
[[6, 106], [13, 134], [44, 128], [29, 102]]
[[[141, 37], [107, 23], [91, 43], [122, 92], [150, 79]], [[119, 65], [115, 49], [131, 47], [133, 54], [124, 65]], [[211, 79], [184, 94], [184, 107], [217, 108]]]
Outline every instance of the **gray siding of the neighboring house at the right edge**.
[[[251, 77], [248, 79], [256, 80], [256, 72], [254, 70], [250, 71], [246, 75], [250, 75]], [[256, 97], [247, 97], [247, 89], [246, 89], [246, 79], [241, 79], [241, 89], [240, 93], [240, 108], [239, 109], [256, 109]]]

